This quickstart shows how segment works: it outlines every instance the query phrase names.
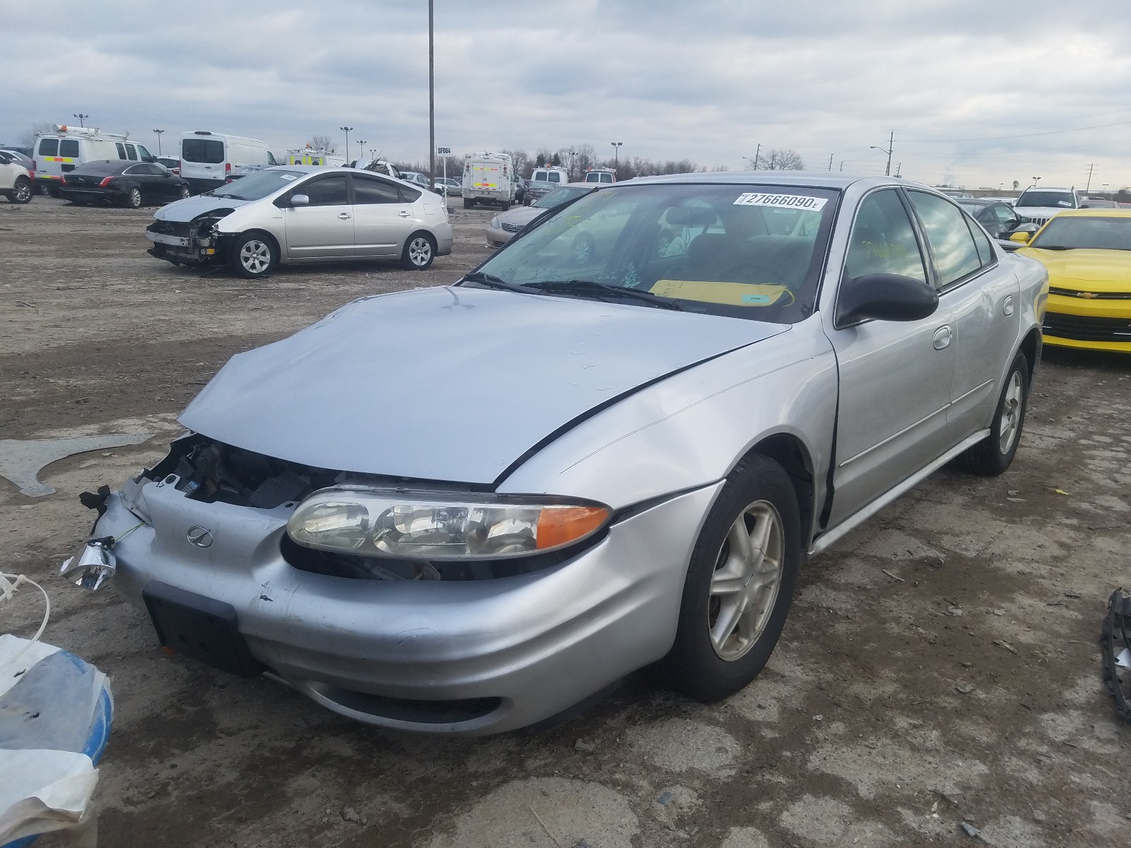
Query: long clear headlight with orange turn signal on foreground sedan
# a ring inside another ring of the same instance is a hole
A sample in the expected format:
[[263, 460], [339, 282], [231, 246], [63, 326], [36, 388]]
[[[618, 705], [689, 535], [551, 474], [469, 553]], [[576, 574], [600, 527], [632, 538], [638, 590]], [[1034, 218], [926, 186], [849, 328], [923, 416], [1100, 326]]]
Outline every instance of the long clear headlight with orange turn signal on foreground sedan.
[[551, 500], [338, 486], [300, 503], [286, 530], [305, 547], [359, 556], [495, 560], [580, 542], [612, 516], [602, 504]]

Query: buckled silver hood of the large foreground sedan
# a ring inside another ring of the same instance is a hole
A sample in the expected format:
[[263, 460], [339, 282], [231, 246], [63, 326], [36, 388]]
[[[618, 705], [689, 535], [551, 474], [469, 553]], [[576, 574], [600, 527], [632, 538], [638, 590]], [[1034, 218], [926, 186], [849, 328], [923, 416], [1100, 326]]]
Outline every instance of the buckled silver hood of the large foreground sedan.
[[461, 286], [399, 292], [233, 356], [180, 422], [318, 468], [492, 484], [625, 395], [788, 329]]

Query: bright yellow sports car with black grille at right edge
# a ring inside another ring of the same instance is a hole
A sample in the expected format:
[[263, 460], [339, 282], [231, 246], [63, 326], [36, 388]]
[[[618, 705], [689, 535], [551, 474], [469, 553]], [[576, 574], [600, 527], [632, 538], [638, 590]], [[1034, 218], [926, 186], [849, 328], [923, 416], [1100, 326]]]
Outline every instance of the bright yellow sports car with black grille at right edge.
[[1062, 211], [1017, 252], [1048, 269], [1046, 345], [1131, 353], [1131, 209]]

